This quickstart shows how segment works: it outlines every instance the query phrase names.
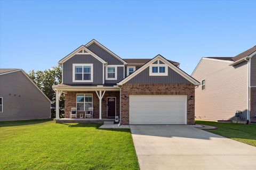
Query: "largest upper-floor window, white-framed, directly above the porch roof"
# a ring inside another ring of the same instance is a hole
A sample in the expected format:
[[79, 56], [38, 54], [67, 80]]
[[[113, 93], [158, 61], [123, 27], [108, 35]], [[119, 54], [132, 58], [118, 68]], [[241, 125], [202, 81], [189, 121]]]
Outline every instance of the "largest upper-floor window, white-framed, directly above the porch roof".
[[73, 64], [73, 82], [93, 82], [93, 64]]

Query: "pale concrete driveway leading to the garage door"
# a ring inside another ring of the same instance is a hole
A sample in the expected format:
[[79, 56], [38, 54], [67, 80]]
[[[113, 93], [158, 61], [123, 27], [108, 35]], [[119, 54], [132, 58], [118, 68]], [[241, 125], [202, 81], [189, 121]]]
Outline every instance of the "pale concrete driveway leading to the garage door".
[[131, 125], [141, 169], [256, 169], [256, 147], [189, 125]]

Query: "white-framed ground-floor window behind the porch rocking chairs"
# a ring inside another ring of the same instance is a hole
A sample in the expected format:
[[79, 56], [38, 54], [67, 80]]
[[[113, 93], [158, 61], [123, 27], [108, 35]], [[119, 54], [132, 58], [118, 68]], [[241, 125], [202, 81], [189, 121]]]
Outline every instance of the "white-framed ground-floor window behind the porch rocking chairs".
[[92, 107], [92, 94], [76, 95], [77, 111], [88, 111], [89, 107]]

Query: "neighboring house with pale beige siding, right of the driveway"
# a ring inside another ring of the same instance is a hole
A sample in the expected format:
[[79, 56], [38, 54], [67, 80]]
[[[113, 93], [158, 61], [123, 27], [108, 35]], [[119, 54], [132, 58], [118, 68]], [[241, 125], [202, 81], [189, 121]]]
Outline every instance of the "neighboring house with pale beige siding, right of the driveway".
[[191, 76], [201, 81], [196, 118], [256, 122], [256, 46], [235, 57], [204, 57]]

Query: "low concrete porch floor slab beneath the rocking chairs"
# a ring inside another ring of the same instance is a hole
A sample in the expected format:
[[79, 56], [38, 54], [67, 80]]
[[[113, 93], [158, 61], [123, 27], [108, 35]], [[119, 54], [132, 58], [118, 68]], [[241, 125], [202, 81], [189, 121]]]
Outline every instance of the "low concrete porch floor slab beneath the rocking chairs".
[[56, 120], [56, 123], [99, 123], [103, 124], [103, 122], [113, 122], [115, 118], [60, 118]]

